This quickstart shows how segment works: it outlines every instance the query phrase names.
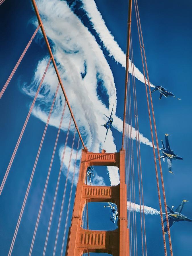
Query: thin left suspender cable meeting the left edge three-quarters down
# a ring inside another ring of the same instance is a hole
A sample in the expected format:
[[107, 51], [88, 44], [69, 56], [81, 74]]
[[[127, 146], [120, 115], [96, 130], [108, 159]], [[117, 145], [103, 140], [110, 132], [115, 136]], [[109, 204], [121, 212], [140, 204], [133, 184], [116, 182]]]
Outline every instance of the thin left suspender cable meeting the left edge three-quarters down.
[[23, 128], [22, 128], [21, 133], [20, 133], [19, 138], [18, 138], [18, 141], [17, 141], [17, 143], [16, 143], [15, 149], [14, 149], [13, 154], [12, 154], [12, 156], [11, 156], [11, 160], [9, 161], [9, 165], [8, 165], [7, 170], [6, 170], [6, 172], [5, 172], [5, 176], [3, 177], [3, 181], [2, 181], [1, 187], [0, 187], [0, 195], [1, 195], [2, 191], [3, 191], [3, 187], [4, 187], [5, 182], [6, 182], [6, 180], [7, 180], [7, 176], [8, 176], [8, 174], [9, 174], [10, 169], [11, 169], [11, 166], [12, 166], [13, 160], [14, 160], [14, 158], [15, 158], [15, 155], [16, 155], [16, 152], [17, 152], [17, 149], [18, 149], [18, 146], [19, 146], [20, 141], [21, 141], [21, 139], [22, 139], [23, 133], [24, 133], [24, 131], [25, 131], [26, 125], [27, 125], [27, 123], [28, 123], [29, 117], [30, 117], [30, 115], [31, 115], [32, 109], [33, 109], [34, 104], [35, 104], [35, 102], [36, 102], [37, 96], [38, 96], [38, 94], [39, 94], [40, 88], [41, 88], [41, 86], [42, 86], [42, 83], [43, 83], [44, 77], [45, 77], [45, 75], [46, 75], [46, 72], [47, 72], [47, 70], [48, 70], [48, 67], [49, 67], [50, 62], [51, 62], [51, 58], [50, 58], [49, 61], [48, 61], [47, 67], [46, 67], [45, 72], [44, 72], [44, 74], [43, 74], [43, 76], [42, 76], [42, 79], [41, 79], [41, 81], [40, 81], [39, 87], [38, 87], [38, 89], [37, 89], [37, 92], [36, 92], [36, 94], [35, 94], [35, 97], [34, 97], [34, 99], [33, 99], [32, 104], [31, 104], [30, 110], [29, 110], [28, 115], [27, 115], [27, 117], [26, 117], [25, 123], [24, 123], [24, 125], [23, 125]]

